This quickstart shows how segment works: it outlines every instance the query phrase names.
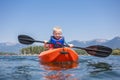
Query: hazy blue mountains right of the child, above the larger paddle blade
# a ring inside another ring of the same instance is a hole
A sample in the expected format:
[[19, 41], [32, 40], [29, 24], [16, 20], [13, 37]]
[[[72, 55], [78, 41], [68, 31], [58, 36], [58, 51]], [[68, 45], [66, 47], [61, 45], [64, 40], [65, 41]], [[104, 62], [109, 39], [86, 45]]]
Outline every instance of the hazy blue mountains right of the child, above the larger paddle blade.
[[69, 43], [74, 44], [75, 46], [80, 46], [80, 47], [87, 47], [91, 45], [104, 45], [112, 49], [116, 49], [116, 48], [120, 48], [120, 37], [117, 36], [111, 40], [106, 40], [106, 39], [95, 39], [91, 41], [73, 40], [73, 41], [70, 41]]

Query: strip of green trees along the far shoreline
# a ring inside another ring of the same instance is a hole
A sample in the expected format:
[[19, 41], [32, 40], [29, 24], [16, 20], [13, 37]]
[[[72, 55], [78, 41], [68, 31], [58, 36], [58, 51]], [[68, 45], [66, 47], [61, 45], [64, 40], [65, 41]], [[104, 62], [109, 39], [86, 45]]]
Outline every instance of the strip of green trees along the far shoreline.
[[[20, 50], [21, 55], [38, 55], [42, 51], [45, 51], [46, 49], [43, 46], [29, 46], [26, 48], [22, 48]], [[88, 53], [81, 49], [75, 49], [75, 51], [79, 55], [88, 55]], [[0, 55], [15, 55], [15, 53], [9, 53], [9, 52], [0, 52]], [[120, 49], [113, 49], [112, 55], [120, 55]]]

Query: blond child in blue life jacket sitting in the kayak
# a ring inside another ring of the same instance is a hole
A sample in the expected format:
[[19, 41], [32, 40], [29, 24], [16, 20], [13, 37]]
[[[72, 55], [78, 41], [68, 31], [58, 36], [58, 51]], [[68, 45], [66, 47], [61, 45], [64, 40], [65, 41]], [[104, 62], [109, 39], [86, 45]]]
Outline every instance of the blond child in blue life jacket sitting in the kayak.
[[[51, 44], [47, 44], [51, 43]], [[51, 49], [51, 48], [61, 48], [63, 45], [67, 45], [69, 47], [73, 47], [72, 44], [66, 44], [64, 37], [62, 36], [62, 29], [60, 27], [53, 28], [53, 35], [50, 37], [49, 42], [44, 41], [44, 47]]]

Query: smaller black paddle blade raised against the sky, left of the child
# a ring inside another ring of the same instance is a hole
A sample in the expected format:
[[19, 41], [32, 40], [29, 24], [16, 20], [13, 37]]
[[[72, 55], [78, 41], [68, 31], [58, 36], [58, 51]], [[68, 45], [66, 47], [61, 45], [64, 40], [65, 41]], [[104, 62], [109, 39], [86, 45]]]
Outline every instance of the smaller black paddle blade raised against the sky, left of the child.
[[27, 35], [19, 35], [18, 41], [22, 44], [32, 44], [35, 40]]

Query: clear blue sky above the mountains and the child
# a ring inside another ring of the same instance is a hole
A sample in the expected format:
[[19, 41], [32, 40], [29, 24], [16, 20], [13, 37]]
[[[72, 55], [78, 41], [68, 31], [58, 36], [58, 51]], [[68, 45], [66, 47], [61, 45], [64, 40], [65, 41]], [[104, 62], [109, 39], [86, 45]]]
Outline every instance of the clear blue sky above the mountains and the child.
[[66, 42], [120, 36], [120, 0], [0, 0], [0, 43], [49, 40], [55, 26]]

